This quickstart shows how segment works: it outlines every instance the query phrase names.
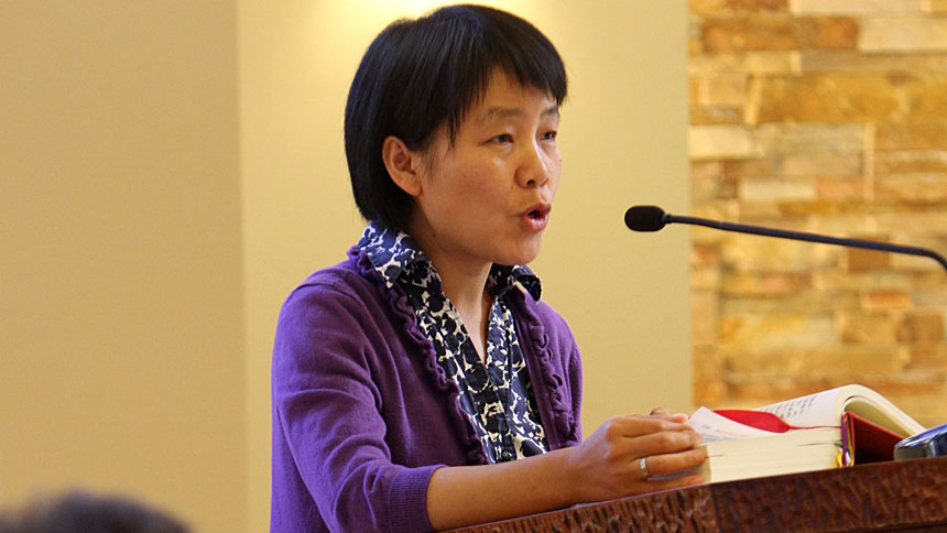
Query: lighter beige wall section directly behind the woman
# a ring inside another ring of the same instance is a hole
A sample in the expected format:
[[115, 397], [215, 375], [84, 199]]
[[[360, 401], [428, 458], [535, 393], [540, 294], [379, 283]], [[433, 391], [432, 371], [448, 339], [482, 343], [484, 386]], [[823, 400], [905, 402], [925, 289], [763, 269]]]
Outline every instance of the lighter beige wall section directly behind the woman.
[[[583, 348], [586, 432], [658, 403], [689, 410], [687, 232], [634, 235], [622, 222], [632, 204], [687, 210], [685, 2], [493, 3], [546, 32], [570, 75], [563, 182], [534, 266]], [[251, 531], [269, 518], [279, 306], [309, 272], [344, 259], [363, 226], [341, 142], [348, 85], [381, 28], [433, 4], [238, 2]]]

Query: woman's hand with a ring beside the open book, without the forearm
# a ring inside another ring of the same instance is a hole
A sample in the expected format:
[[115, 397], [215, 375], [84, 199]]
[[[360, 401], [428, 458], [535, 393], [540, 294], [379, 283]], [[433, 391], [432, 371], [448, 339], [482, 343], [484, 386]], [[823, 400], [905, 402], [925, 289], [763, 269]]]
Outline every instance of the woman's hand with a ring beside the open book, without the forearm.
[[704, 482], [699, 477], [650, 479], [695, 467], [707, 457], [704, 449], [694, 448], [700, 436], [686, 421], [686, 414], [663, 409], [606, 421], [580, 445], [568, 448], [576, 500], [611, 500]]

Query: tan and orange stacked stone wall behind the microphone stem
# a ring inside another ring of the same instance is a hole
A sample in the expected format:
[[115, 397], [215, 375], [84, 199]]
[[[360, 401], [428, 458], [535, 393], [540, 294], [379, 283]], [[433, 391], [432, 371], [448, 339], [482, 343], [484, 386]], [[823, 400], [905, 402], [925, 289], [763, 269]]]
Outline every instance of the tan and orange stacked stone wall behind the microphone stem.
[[[947, 0], [690, 0], [693, 214], [947, 254]], [[695, 228], [695, 401], [947, 422], [947, 271]]]

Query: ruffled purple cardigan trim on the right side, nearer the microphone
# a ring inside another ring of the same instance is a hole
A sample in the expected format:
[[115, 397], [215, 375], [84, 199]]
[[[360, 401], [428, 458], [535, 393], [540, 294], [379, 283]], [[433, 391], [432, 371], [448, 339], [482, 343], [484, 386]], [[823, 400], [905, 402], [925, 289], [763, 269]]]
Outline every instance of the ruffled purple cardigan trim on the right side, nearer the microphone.
[[[576, 424], [575, 413], [573, 413], [572, 407], [563, 401], [563, 393], [560, 391], [565, 379], [556, 372], [552, 363], [553, 356], [549, 352], [549, 336], [546, 335], [543, 323], [535, 313], [533, 305], [526, 303], [523, 291], [510, 291], [508, 294], [510, 296], [508, 301], [516, 305], [522, 312], [521, 316], [525, 322], [526, 334], [530, 336], [530, 340], [532, 340], [535, 348], [536, 360], [545, 384], [544, 389], [553, 411], [556, 429], [562, 436], [562, 443], [573, 442], [578, 444], [576, 435], [578, 424]], [[534, 391], [536, 389], [535, 387], [533, 388]]]

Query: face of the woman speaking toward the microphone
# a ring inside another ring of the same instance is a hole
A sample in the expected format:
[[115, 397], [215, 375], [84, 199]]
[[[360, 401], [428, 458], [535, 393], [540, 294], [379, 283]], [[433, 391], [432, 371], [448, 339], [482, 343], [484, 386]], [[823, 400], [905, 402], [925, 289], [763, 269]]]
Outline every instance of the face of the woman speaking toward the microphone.
[[435, 265], [481, 269], [536, 258], [562, 170], [558, 124], [555, 99], [494, 69], [453, 146], [446, 128], [438, 130], [423, 154], [410, 224]]

